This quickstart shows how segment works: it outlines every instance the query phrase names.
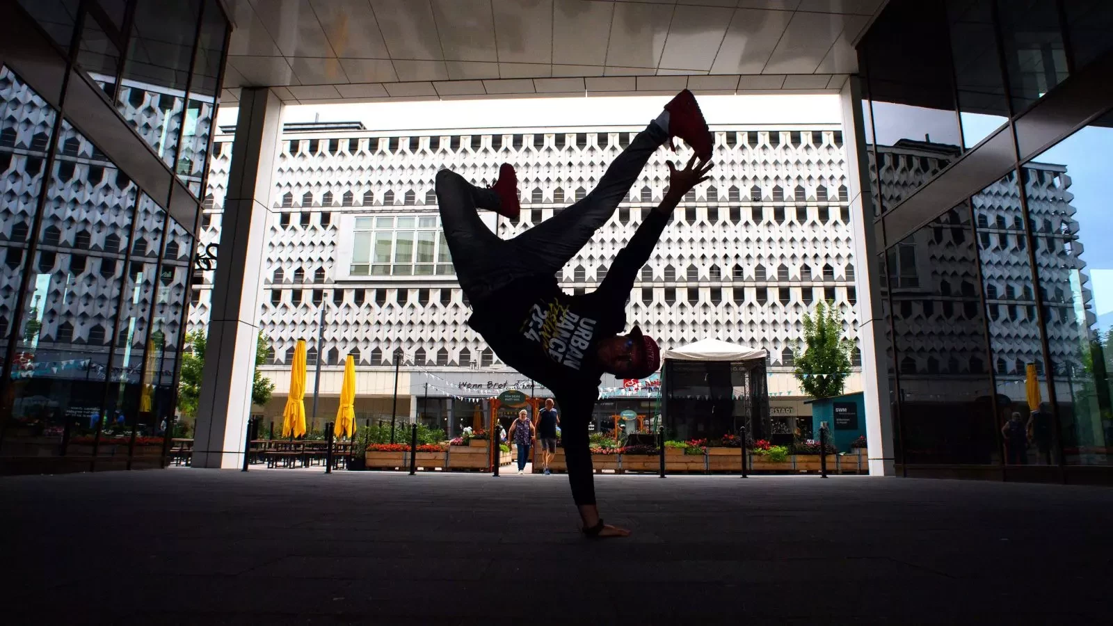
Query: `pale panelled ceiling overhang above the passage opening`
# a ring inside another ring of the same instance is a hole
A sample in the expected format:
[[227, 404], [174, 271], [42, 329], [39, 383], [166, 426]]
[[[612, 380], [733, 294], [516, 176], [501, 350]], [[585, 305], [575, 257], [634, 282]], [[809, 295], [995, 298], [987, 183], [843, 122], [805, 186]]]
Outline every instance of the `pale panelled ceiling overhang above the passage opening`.
[[225, 0], [224, 101], [827, 92], [885, 0]]

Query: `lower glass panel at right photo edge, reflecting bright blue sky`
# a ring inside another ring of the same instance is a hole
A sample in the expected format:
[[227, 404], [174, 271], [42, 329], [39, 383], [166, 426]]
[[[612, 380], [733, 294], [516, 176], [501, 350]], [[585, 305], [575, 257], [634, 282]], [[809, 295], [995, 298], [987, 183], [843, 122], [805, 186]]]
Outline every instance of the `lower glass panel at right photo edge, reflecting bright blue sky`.
[[[1113, 247], [1106, 242], [1113, 233], [1111, 124], [1113, 115], [1106, 115], [1023, 168], [1063, 456], [1070, 464], [1113, 463]], [[1050, 426], [1033, 424], [1037, 444]]]

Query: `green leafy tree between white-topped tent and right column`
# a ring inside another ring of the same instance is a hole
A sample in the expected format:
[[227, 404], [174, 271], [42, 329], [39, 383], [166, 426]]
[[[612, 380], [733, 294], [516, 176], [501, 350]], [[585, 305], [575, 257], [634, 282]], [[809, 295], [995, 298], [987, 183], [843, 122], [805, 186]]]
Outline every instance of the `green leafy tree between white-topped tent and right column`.
[[812, 398], [843, 393], [850, 375], [854, 342], [843, 336], [843, 316], [834, 303], [819, 302], [812, 314], [804, 315], [804, 349], [792, 351], [796, 379]]

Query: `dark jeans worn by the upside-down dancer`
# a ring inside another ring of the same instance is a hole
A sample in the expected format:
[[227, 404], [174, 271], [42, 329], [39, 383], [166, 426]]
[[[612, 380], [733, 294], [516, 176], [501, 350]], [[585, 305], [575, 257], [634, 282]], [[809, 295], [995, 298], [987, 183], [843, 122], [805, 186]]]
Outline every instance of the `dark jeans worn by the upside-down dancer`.
[[590, 194], [512, 239], [499, 238], [476, 211], [499, 207], [494, 192], [472, 185], [455, 172], [437, 172], [436, 202], [444, 238], [469, 300], [480, 302], [518, 278], [555, 274], [610, 219], [668, 137], [650, 123], [614, 158]]

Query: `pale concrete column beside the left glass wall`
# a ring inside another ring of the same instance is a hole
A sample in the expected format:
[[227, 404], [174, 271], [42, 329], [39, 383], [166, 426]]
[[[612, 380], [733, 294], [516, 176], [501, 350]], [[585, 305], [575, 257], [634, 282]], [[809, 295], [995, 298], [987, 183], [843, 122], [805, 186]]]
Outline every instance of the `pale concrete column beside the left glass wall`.
[[268, 89], [242, 90], [213, 282], [195, 468], [237, 468], [244, 462], [280, 114], [282, 101]]

